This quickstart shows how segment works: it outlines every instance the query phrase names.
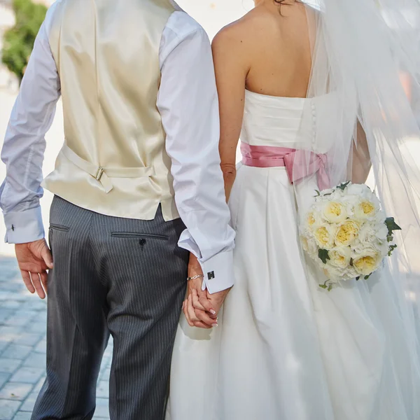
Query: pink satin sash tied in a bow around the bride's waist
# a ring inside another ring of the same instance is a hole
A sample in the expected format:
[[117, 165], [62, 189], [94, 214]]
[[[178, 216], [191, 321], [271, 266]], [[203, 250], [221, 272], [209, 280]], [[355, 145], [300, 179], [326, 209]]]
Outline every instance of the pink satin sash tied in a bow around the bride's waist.
[[330, 188], [330, 180], [325, 170], [327, 156], [314, 152], [298, 151], [277, 146], [251, 146], [241, 143], [242, 163], [250, 167], [285, 167], [290, 183], [300, 181], [317, 173], [318, 187]]

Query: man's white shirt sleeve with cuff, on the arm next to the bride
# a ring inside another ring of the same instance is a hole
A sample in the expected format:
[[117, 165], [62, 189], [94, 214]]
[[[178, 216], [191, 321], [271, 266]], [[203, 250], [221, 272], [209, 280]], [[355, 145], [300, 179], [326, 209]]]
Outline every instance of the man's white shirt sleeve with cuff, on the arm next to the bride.
[[176, 206], [187, 227], [179, 246], [200, 261], [204, 288], [218, 293], [234, 283], [235, 231], [225, 202], [216, 80], [204, 29], [190, 31], [166, 57], [158, 108], [172, 158]]

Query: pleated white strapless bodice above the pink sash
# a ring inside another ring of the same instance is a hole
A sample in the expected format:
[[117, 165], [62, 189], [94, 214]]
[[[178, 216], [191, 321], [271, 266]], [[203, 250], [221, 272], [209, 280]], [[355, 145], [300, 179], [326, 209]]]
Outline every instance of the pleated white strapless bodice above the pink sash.
[[246, 90], [241, 141], [252, 146], [281, 146], [326, 153], [320, 136], [331, 95], [316, 98], [272, 97]]

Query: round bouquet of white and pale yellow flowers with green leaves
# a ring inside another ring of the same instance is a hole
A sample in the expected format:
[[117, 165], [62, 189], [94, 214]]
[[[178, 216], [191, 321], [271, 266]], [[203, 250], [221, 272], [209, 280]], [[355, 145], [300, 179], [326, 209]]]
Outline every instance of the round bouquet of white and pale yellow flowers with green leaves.
[[397, 247], [393, 232], [401, 228], [386, 218], [364, 184], [346, 182], [316, 193], [300, 237], [304, 251], [328, 277], [319, 286], [329, 291], [339, 280], [369, 279]]

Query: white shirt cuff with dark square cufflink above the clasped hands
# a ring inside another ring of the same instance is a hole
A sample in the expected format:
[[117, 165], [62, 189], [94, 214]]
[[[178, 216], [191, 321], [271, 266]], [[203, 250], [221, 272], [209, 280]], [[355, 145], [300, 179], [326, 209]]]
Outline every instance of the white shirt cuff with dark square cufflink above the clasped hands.
[[209, 293], [221, 292], [231, 288], [235, 282], [233, 270], [233, 251], [223, 251], [206, 262], [200, 261], [203, 269], [203, 290]]

